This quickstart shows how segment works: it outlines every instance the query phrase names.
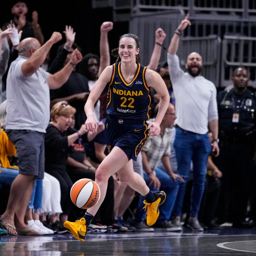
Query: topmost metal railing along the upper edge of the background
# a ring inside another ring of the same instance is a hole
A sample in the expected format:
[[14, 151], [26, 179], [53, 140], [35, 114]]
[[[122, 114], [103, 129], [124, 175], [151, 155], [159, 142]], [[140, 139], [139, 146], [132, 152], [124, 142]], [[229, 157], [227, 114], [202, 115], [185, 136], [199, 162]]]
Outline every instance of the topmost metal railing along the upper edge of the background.
[[145, 12], [182, 10], [191, 19], [255, 21], [255, 0], [92, 0], [93, 8], [113, 7], [113, 21]]

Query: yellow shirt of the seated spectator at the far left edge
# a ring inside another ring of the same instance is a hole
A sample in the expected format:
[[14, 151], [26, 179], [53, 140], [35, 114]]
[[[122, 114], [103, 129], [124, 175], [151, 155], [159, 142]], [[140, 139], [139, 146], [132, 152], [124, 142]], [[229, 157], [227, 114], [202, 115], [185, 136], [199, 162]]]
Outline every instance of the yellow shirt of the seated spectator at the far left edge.
[[[7, 134], [0, 130], [0, 163], [3, 168], [15, 168], [18, 166], [11, 166], [7, 156], [14, 156], [17, 153], [15, 145], [9, 140]], [[0, 169], [1, 172], [1, 169]]]

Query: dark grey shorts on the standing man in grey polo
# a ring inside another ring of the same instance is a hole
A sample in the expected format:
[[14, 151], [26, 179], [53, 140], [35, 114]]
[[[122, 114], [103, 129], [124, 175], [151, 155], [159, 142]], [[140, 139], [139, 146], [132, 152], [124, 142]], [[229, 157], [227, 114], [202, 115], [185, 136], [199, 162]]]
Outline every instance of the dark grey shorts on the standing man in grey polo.
[[44, 133], [31, 130], [8, 130], [6, 134], [17, 149], [19, 174], [44, 178]]

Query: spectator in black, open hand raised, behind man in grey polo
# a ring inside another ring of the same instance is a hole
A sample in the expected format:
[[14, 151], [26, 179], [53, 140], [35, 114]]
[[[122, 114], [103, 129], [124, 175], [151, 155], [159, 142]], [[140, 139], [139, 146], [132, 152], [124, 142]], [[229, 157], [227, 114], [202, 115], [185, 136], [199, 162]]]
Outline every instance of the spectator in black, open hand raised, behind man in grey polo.
[[[66, 43], [58, 47], [57, 56], [48, 69], [49, 73], [56, 73], [70, 61], [70, 56], [75, 49], [80, 47], [75, 43], [76, 32], [71, 26], [66, 26], [64, 31]], [[76, 129], [79, 129], [86, 120], [84, 104], [89, 96], [87, 79], [78, 73], [77, 68], [73, 70], [67, 82], [57, 90], [50, 90], [51, 106], [60, 101], [67, 101], [76, 108]]]

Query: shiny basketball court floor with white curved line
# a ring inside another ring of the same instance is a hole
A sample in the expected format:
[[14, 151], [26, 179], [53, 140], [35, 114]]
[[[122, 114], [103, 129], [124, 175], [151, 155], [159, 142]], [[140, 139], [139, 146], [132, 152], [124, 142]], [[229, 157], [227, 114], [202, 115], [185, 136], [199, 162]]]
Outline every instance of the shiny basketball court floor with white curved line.
[[222, 227], [204, 232], [126, 232], [86, 235], [84, 242], [72, 234], [1, 236], [0, 256], [208, 256], [253, 255], [256, 229]]

